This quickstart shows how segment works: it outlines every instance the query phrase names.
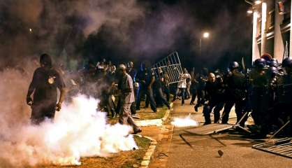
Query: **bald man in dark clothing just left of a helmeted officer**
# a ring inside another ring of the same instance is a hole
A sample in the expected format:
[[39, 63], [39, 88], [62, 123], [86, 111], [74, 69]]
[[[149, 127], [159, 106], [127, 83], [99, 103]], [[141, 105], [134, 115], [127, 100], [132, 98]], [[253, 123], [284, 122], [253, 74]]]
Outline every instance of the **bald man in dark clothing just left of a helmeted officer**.
[[208, 80], [205, 86], [205, 99], [208, 103], [204, 106], [203, 115], [205, 117], [204, 125], [210, 124], [210, 113], [214, 108], [214, 123], [218, 123], [220, 119], [220, 111], [223, 109], [224, 102], [222, 94], [224, 92], [223, 81], [221, 78], [216, 78], [214, 73], [209, 73]]

